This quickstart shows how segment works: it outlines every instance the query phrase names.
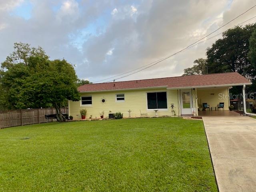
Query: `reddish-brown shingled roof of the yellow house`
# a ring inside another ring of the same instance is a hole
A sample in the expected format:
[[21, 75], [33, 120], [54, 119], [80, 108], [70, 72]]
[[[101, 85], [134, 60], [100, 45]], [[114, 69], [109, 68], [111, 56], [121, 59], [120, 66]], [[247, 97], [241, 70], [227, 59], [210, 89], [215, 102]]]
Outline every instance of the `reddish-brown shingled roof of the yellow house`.
[[122, 90], [166, 86], [167, 88], [184, 88], [198, 86], [225, 86], [251, 84], [251, 82], [237, 72], [217, 73], [206, 75], [190, 75], [145, 80], [133, 80], [111, 83], [85, 84], [78, 87], [79, 92]]

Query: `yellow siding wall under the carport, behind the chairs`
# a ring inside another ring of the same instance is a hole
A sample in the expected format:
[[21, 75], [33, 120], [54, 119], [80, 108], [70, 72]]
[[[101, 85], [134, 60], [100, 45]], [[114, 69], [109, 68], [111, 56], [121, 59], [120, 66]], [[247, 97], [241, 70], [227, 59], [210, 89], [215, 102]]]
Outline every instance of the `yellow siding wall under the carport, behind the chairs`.
[[201, 100], [201, 104], [207, 103], [210, 105], [210, 108], [212, 107], [212, 110], [215, 110], [215, 107], [216, 107], [216, 110], [218, 110], [217, 105], [220, 104], [220, 102], [224, 102], [224, 110], [229, 110], [228, 109], [228, 106], [229, 106], [228, 87], [197, 89], [197, 96], [198, 96], [198, 107], [200, 107], [200, 100]]

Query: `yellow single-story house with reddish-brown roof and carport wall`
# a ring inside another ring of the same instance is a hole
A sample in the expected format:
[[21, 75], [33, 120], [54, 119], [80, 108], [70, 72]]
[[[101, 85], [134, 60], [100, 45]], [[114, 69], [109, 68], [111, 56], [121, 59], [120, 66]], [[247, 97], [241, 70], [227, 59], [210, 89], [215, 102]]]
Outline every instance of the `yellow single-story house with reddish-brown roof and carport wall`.
[[104, 118], [121, 112], [124, 118], [141, 116], [198, 116], [198, 110], [229, 110], [229, 89], [252, 84], [237, 72], [191, 75], [99, 84], [78, 88], [81, 100], [68, 101], [69, 115]]

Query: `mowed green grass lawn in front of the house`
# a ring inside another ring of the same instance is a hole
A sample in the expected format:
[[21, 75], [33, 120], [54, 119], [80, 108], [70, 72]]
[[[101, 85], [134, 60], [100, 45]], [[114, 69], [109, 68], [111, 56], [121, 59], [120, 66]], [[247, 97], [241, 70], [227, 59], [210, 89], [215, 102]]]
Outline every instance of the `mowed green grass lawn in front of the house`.
[[217, 191], [203, 123], [138, 118], [0, 130], [0, 191]]

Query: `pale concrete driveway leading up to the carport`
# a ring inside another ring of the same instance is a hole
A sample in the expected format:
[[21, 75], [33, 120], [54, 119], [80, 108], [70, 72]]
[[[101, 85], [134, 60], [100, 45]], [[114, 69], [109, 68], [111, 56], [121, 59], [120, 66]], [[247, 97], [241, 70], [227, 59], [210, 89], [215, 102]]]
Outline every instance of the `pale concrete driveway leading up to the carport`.
[[203, 117], [220, 192], [256, 192], [256, 119]]

